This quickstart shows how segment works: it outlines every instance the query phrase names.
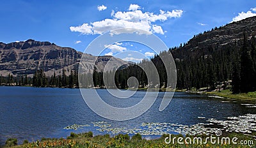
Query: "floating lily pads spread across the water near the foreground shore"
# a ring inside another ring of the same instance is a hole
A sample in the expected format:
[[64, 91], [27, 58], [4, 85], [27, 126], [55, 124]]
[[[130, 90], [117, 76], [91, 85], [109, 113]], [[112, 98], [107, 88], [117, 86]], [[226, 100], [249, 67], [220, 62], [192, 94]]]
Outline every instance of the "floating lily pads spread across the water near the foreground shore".
[[[205, 119], [205, 117], [198, 117], [199, 119]], [[125, 128], [125, 127], [112, 127], [106, 121], [92, 122], [92, 125], [86, 124], [86, 126], [95, 127], [95, 130], [102, 133], [109, 133], [110, 135], [118, 135], [125, 133], [128, 135], [140, 134], [142, 136], [161, 136], [167, 133], [176, 133], [182, 135], [215, 135], [216, 131], [221, 130], [223, 132], [237, 132], [244, 134], [252, 134], [256, 131], [256, 115], [246, 114], [239, 117], [227, 117], [226, 121], [217, 120], [214, 118], [205, 119], [208, 123], [198, 123], [193, 125], [182, 125], [178, 123], [168, 122], [142, 122], [137, 128]], [[216, 128], [218, 126], [218, 128]], [[84, 125], [74, 124], [68, 126], [70, 128], [83, 128]]]

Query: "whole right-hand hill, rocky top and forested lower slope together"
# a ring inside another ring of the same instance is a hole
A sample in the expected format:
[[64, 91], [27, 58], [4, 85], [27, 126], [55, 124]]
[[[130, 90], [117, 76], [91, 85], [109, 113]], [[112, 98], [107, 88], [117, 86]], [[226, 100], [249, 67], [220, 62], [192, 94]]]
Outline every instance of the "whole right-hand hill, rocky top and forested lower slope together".
[[[211, 31], [195, 35], [180, 47], [170, 48], [177, 70], [176, 88], [202, 91], [232, 89], [233, 93], [256, 91], [255, 35], [256, 17], [250, 17], [215, 27]], [[151, 61], [159, 73], [161, 87], [166, 87], [167, 73], [161, 56], [170, 55], [163, 51]], [[142, 61], [141, 64], [147, 64], [147, 61]], [[136, 75], [134, 71], [140, 75]], [[127, 87], [125, 75], [138, 78], [141, 87], [148, 85], [147, 77], [142, 71], [139, 66], [118, 71], [118, 87]], [[236, 92], [233, 91], [234, 86]]]

